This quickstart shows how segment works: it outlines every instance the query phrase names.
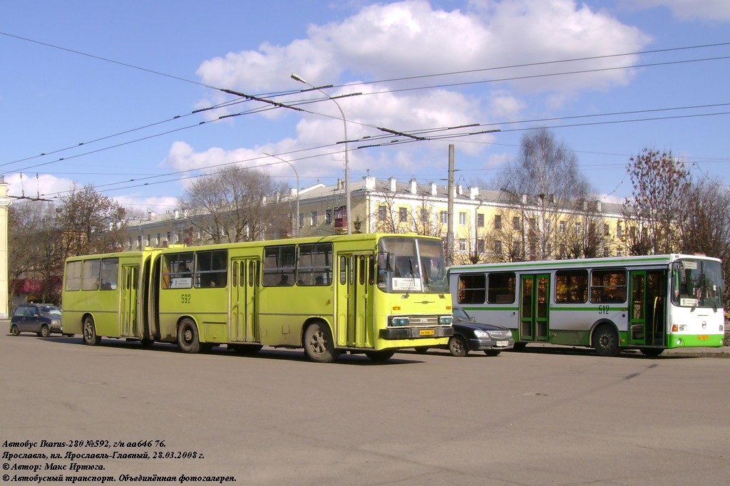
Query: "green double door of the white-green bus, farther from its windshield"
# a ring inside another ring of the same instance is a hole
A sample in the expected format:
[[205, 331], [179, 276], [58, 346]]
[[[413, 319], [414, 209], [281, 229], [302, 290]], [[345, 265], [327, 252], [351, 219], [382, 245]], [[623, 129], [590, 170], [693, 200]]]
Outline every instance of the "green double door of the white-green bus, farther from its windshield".
[[549, 274], [520, 275], [520, 341], [548, 341]]

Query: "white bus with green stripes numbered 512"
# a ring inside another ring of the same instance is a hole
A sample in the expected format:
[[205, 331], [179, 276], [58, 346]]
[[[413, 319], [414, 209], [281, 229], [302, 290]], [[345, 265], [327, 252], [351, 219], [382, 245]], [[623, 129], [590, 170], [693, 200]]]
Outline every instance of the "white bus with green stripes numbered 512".
[[[638, 349], [723, 344], [721, 261], [649, 255], [454, 266], [453, 300], [476, 320], [531, 342], [593, 347], [615, 356]], [[456, 304], [455, 304], [456, 305]]]

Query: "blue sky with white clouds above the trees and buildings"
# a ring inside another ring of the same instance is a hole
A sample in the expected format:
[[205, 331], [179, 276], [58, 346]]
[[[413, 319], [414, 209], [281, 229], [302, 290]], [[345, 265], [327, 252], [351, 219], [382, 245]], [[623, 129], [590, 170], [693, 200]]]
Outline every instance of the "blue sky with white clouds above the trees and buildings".
[[93, 184], [172, 211], [191, 177], [230, 163], [296, 186], [264, 153], [291, 161], [302, 187], [333, 183], [341, 114], [292, 73], [333, 85], [328, 96], [361, 93], [337, 100], [352, 180], [445, 184], [455, 144], [458, 182], [489, 181], [548, 126], [607, 198], [631, 195], [626, 164], [643, 148], [730, 183], [726, 0], [4, 0], [1, 12], [0, 174], [14, 196]]

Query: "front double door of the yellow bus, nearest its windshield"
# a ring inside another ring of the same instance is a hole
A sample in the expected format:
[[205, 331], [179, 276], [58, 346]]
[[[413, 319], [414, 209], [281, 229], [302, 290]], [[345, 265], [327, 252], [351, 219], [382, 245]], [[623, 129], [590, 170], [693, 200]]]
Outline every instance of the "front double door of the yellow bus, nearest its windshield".
[[337, 254], [337, 325], [334, 337], [338, 346], [365, 347], [372, 327], [372, 253]]

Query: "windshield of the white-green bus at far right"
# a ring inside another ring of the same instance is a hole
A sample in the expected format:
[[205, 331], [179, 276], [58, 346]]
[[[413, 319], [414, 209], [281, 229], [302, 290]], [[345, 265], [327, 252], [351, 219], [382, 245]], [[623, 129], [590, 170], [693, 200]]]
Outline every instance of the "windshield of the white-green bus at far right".
[[719, 262], [683, 259], [672, 264], [672, 303], [681, 307], [723, 306], [723, 271]]

